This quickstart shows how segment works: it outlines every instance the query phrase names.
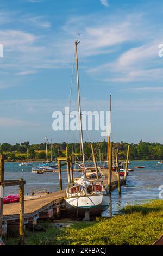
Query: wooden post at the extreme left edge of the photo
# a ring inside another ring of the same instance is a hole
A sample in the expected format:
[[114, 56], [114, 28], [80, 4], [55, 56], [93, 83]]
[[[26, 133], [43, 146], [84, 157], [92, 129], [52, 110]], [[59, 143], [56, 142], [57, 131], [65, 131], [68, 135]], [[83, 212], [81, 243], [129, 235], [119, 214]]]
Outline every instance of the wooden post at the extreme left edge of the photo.
[[[4, 181], [4, 155], [0, 155], [0, 183]], [[0, 185], [0, 238], [2, 238], [3, 223], [3, 186]]]

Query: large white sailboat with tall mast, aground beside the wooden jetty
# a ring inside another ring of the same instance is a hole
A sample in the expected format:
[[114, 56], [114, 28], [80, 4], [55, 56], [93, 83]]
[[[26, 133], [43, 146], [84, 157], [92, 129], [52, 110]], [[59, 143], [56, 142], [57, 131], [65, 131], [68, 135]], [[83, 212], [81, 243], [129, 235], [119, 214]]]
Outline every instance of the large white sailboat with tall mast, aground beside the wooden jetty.
[[68, 211], [77, 216], [85, 216], [89, 220], [90, 215], [97, 215], [105, 211], [109, 205], [108, 189], [103, 185], [101, 174], [97, 168], [97, 179], [91, 181], [86, 177], [83, 130], [82, 130], [82, 111], [80, 106], [80, 88], [78, 72], [78, 51], [77, 46], [80, 41], [75, 42], [76, 52], [76, 72], [77, 72], [77, 90], [78, 90], [78, 110], [80, 124], [80, 139], [82, 145], [83, 176], [77, 180], [72, 187], [68, 187], [65, 192], [65, 201]]

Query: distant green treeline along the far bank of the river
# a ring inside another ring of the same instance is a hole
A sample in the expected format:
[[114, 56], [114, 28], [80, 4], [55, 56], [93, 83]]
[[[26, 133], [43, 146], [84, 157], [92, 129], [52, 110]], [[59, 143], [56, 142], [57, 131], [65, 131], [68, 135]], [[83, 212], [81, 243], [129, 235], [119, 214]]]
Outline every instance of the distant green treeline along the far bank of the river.
[[[119, 151], [120, 159], [126, 159], [127, 147], [129, 143], [121, 141], [121, 143], [114, 143], [115, 149]], [[106, 159], [107, 155], [107, 142], [94, 142], [93, 147], [96, 152], [97, 160]], [[50, 145], [47, 145], [48, 148], [48, 157], [50, 157]], [[55, 157], [65, 156], [66, 143], [54, 143], [52, 144], [52, 155], [53, 159]], [[5, 155], [6, 160], [22, 160], [27, 159], [27, 149], [29, 152], [29, 159], [31, 160], [45, 160], [46, 159], [46, 145], [45, 143], [41, 144], [32, 144], [23, 142], [21, 144], [16, 143], [15, 145], [10, 145], [8, 143], [0, 144], [1, 153]], [[69, 143], [68, 151], [74, 153], [77, 159], [80, 160], [80, 143]], [[90, 143], [84, 143], [84, 151], [86, 159], [91, 159], [91, 147]], [[130, 160], [163, 160], [163, 145], [160, 143], [149, 143], [140, 141], [138, 144], [130, 144]]]

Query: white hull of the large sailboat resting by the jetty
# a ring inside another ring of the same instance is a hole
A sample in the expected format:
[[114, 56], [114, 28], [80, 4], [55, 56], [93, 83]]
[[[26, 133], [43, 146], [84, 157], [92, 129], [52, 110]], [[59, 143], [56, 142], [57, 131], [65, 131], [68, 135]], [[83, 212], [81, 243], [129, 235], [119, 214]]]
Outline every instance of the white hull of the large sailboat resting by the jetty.
[[71, 214], [85, 216], [85, 212], [91, 215], [101, 214], [108, 209], [109, 195], [99, 194], [65, 198], [67, 209]]

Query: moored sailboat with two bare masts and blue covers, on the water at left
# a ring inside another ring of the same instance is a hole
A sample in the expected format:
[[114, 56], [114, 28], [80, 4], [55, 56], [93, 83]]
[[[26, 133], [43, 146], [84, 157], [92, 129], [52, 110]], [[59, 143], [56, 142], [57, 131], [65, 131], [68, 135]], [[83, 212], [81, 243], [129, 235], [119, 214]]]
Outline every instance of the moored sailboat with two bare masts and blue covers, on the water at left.
[[46, 163], [41, 164], [39, 166], [32, 167], [32, 173], [40, 173], [41, 172], [54, 172], [58, 169], [57, 163], [52, 163], [52, 141], [51, 141], [51, 161], [48, 161], [48, 153], [47, 153], [47, 137], [45, 137], [45, 145], [46, 145]]

